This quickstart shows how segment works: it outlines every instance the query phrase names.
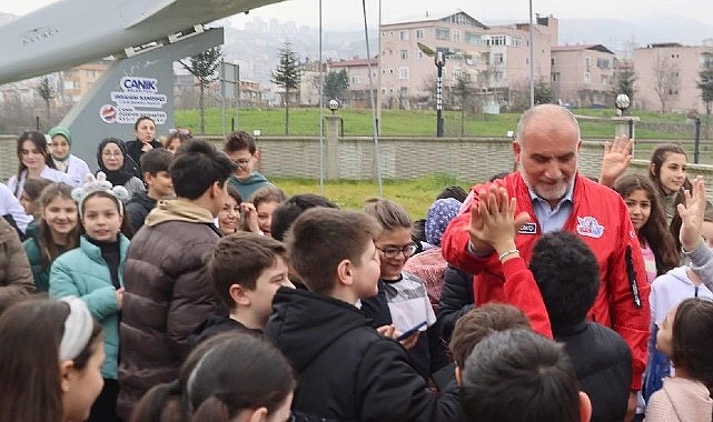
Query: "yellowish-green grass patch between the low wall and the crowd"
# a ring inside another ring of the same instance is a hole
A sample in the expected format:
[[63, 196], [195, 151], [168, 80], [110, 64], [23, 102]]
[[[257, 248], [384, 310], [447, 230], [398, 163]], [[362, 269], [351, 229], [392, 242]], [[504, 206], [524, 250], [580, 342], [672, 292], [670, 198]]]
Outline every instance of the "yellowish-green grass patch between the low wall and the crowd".
[[[346, 210], [360, 210], [364, 201], [379, 195], [376, 180], [329, 180], [325, 181], [324, 192], [318, 180], [310, 179], [278, 179], [270, 181], [287, 194], [317, 193], [328, 198]], [[459, 185], [466, 191], [471, 184], [459, 181], [450, 174], [432, 174], [416, 180], [385, 180], [384, 197], [400, 203], [414, 220], [426, 217], [428, 208], [440, 191], [449, 185]]]

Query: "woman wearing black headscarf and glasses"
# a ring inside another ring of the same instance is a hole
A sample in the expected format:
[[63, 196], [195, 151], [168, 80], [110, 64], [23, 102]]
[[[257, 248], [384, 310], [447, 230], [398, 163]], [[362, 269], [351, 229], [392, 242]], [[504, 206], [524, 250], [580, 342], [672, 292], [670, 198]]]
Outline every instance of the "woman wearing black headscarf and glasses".
[[107, 174], [107, 180], [112, 185], [121, 185], [129, 191], [129, 198], [133, 193], [146, 191], [141, 181], [139, 167], [127, 154], [126, 143], [118, 138], [107, 138], [97, 149], [97, 163], [99, 171]]

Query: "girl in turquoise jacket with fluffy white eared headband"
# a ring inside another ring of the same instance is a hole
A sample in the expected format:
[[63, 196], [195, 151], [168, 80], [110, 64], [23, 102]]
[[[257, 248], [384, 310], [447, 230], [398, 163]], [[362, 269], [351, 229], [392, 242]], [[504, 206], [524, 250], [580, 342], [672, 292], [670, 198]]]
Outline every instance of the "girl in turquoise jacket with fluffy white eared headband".
[[107, 359], [101, 366], [105, 386], [91, 409], [89, 421], [117, 421], [119, 394], [119, 312], [123, 299], [123, 263], [129, 238], [122, 232], [122, 187], [112, 187], [100, 172], [95, 180], [87, 177], [82, 188], [72, 191], [79, 203], [82, 234], [79, 248], [65, 252], [50, 270], [50, 297], [76, 297], [87, 303], [91, 315], [105, 333]]

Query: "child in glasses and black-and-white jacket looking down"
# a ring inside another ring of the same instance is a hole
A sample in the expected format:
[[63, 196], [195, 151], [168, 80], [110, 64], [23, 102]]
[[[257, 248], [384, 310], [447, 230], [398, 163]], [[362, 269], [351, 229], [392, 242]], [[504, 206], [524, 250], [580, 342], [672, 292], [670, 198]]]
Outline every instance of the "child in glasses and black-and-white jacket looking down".
[[426, 322], [405, 346], [414, 369], [428, 380], [448, 360], [426, 285], [404, 271], [406, 261], [416, 253], [412, 219], [404, 207], [383, 199], [368, 200], [364, 211], [382, 224], [383, 231], [374, 242], [382, 268], [378, 294], [363, 299], [362, 311], [374, 320], [374, 326], [393, 324], [399, 332]]

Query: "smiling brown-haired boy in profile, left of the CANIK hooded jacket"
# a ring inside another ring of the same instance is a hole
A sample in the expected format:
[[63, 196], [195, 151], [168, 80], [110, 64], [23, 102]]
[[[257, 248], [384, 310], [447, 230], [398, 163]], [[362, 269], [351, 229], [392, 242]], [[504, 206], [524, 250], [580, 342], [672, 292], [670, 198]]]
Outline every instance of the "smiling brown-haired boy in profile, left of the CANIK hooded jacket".
[[194, 332], [195, 343], [228, 330], [263, 334], [273, 313], [273, 298], [289, 281], [287, 250], [273, 238], [237, 232], [221, 238], [208, 255], [206, 267], [229, 316], [209, 316]]

